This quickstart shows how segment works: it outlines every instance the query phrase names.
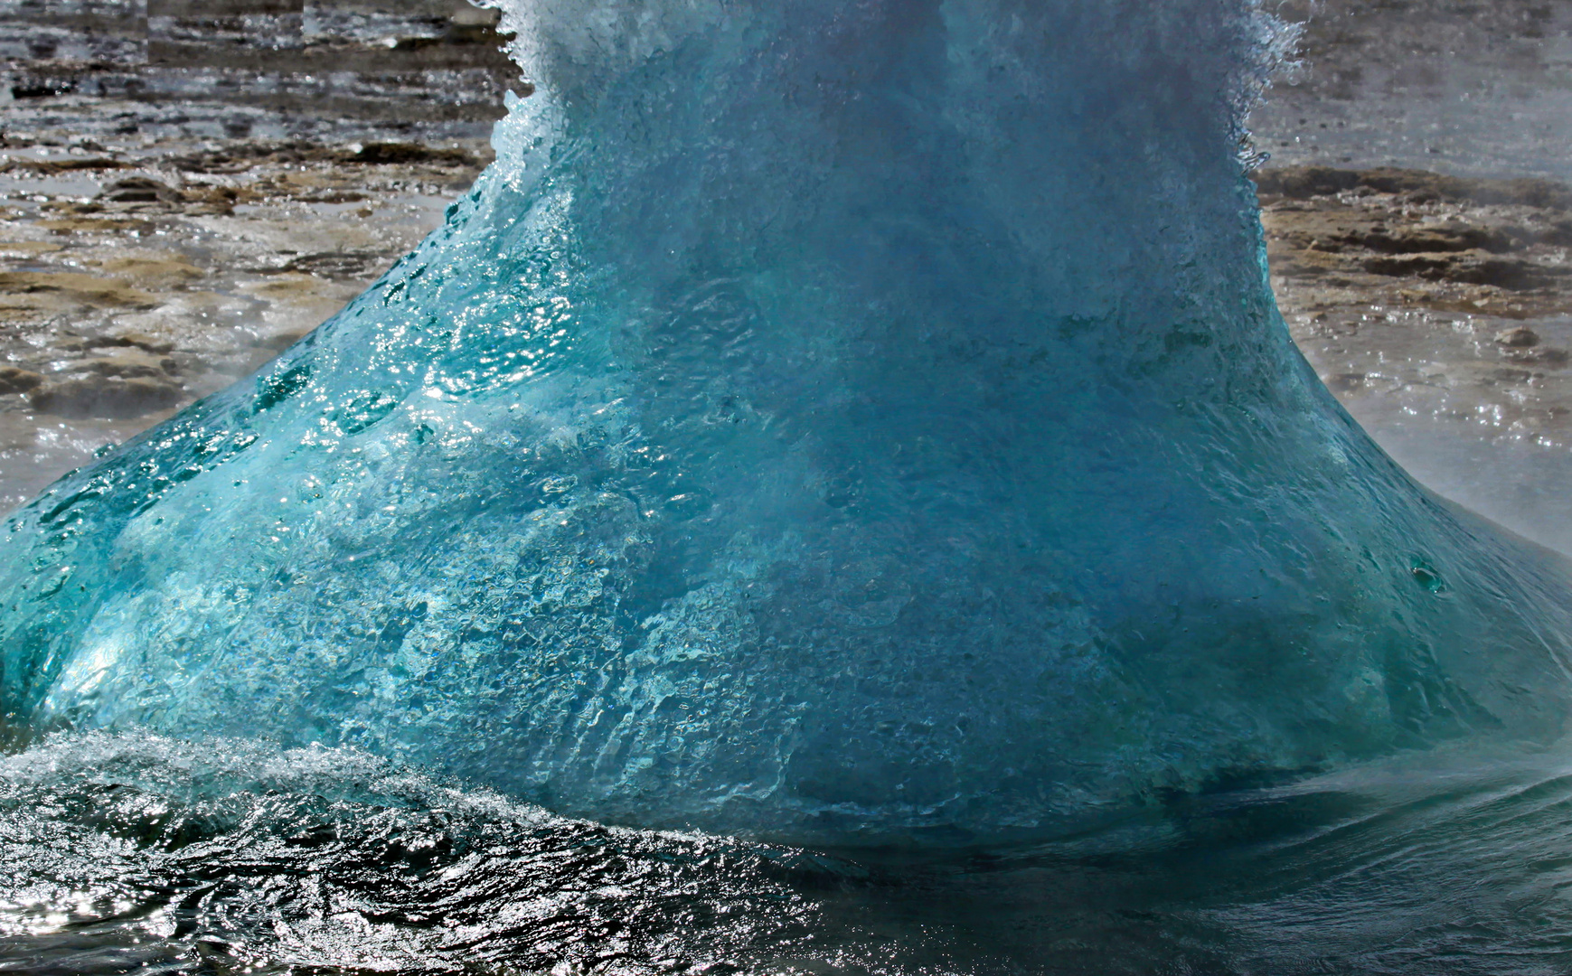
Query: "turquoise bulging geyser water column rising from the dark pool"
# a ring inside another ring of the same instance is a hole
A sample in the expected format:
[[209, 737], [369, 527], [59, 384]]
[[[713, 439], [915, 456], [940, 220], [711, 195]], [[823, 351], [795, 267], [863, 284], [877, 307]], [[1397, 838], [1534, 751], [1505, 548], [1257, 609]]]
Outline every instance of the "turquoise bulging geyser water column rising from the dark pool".
[[448, 225], [5, 533], [13, 723], [640, 825], [1052, 830], [1567, 715], [1289, 343], [1245, 0], [561, 0]]

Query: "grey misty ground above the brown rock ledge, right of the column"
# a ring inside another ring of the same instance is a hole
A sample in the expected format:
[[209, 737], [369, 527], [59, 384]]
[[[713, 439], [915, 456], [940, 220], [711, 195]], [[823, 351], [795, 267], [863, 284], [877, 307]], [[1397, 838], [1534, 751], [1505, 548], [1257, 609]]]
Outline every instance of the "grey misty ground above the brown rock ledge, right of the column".
[[1572, 179], [1572, 3], [1284, 0], [1302, 64], [1251, 118], [1272, 165]]

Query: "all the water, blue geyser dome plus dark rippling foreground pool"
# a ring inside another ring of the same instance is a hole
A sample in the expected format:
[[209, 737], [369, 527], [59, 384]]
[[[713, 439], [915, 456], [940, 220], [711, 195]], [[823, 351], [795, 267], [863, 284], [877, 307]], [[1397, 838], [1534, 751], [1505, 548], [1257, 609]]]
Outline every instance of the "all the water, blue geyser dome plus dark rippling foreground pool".
[[1281, 25], [506, 13], [446, 228], [9, 520], [0, 965], [1566, 968], [1572, 580], [1289, 343]]

